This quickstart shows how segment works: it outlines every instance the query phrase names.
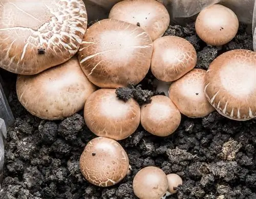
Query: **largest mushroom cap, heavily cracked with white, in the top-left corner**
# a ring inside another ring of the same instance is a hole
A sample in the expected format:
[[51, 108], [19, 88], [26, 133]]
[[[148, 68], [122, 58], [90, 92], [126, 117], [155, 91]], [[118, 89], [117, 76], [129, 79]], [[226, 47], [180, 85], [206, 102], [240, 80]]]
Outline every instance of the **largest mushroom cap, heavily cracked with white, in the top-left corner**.
[[3, 0], [0, 21], [0, 67], [37, 74], [76, 54], [87, 11], [82, 0]]

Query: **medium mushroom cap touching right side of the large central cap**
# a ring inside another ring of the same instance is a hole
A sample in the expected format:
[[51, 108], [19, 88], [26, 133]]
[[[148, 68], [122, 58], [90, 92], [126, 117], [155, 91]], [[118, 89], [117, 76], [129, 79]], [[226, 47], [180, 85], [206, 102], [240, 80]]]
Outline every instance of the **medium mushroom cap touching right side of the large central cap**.
[[161, 81], [178, 80], [197, 63], [197, 52], [186, 39], [164, 36], [153, 42], [151, 71]]

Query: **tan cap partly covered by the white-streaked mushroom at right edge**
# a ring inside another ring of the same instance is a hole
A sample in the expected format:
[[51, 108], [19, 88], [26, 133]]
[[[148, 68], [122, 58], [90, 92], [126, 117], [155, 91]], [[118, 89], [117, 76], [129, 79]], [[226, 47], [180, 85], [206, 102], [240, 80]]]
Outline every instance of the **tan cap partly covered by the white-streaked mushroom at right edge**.
[[204, 117], [215, 110], [204, 94], [205, 74], [206, 70], [194, 68], [170, 85], [170, 99], [187, 117]]

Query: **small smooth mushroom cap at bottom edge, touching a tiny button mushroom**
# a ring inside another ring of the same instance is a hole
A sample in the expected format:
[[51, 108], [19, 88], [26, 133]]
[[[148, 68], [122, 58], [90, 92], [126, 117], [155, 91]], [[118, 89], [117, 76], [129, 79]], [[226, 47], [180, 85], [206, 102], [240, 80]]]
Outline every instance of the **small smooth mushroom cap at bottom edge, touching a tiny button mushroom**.
[[155, 166], [142, 168], [133, 180], [134, 194], [140, 199], [159, 199], [167, 188], [168, 181], [164, 171]]

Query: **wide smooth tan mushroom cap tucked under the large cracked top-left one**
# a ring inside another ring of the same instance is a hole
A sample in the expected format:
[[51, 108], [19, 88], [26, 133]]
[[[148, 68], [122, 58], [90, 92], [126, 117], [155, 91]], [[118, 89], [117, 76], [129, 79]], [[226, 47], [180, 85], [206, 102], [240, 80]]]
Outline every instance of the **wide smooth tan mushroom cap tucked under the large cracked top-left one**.
[[42, 119], [63, 119], [83, 109], [96, 90], [82, 72], [76, 56], [65, 63], [31, 76], [18, 75], [19, 102]]

